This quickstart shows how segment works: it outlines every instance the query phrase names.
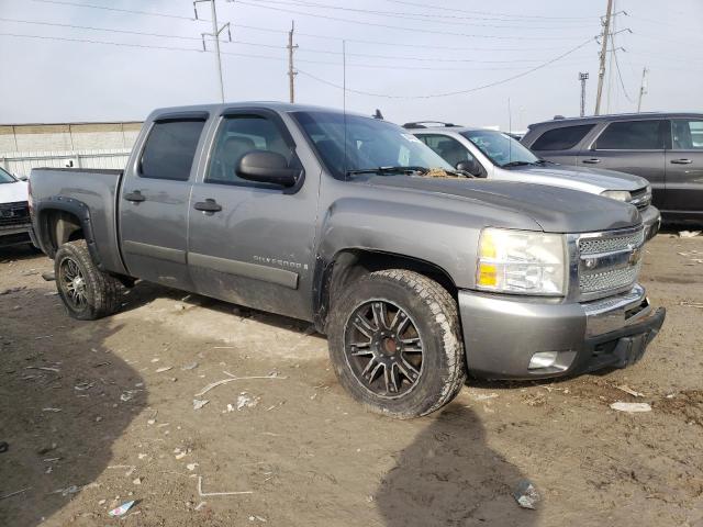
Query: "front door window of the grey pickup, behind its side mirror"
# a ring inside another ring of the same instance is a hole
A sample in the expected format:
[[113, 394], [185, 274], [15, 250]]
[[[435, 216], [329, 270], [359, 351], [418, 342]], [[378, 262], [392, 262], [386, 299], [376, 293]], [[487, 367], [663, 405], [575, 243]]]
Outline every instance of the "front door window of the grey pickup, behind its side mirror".
[[279, 189], [277, 184], [248, 181], [237, 176], [239, 159], [252, 150], [275, 152], [283, 156], [289, 166], [298, 164], [293, 149], [270, 119], [259, 115], [225, 117], [217, 132], [205, 182]]

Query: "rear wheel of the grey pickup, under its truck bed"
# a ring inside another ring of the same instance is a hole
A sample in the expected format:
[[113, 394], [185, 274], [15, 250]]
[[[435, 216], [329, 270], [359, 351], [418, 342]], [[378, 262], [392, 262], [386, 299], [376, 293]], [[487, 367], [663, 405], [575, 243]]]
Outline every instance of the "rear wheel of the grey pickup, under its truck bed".
[[58, 295], [74, 318], [94, 321], [120, 310], [124, 287], [98, 269], [86, 240], [69, 242], [58, 248], [54, 273]]

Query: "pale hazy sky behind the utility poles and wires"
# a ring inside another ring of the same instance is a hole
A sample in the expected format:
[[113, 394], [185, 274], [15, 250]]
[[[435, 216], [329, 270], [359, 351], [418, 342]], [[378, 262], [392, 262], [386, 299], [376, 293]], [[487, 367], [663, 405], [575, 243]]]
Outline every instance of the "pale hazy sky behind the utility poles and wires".
[[[636, 111], [644, 67], [643, 111], [701, 111], [703, 1], [614, 1], [601, 113]], [[521, 131], [578, 115], [582, 71], [592, 114], [606, 3], [216, 0], [233, 41], [221, 45], [225, 100], [288, 100], [294, 21], [295, 102]], [[141, 121], [219, 102], [214, 43], [203, 52], [201, 37], [210, 2], [198, 12], [190, 0], [0, 0], [0, 124]]]

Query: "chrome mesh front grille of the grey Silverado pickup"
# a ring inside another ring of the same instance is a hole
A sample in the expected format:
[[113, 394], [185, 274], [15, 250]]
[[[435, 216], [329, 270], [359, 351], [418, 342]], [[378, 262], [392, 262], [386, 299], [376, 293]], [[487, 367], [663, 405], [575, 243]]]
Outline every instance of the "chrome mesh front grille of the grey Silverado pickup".
[[593, 233], [579, 238], [578, 284], [584, 300], [635, 284], [641, 268], [644, 228]]

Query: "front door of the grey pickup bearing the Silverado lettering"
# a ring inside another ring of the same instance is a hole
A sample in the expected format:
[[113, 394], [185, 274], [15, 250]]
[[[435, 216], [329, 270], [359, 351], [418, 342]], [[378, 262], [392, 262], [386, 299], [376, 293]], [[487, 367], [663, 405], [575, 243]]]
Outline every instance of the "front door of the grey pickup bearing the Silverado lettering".
[[222, 117], [212, 155], [190, 200], [189, 255], [199, 293], [309, 318], [320, 173], [306, 170], [292, 189], [242, 179], [252, 150], [281, 154], [300, 166], [278, 114], [237, 111]]

